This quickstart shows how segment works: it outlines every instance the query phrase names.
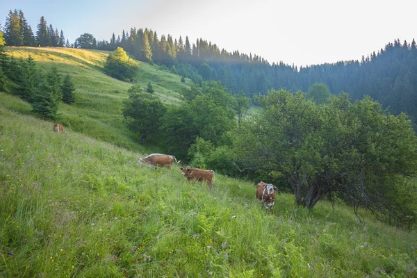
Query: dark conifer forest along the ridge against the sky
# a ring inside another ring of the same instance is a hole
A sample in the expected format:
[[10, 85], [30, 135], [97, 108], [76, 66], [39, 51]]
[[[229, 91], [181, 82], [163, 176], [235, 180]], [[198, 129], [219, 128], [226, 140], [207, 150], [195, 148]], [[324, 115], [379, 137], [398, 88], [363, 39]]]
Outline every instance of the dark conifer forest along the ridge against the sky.
[[110, 40], [97, 41], [94, 35], [84, 33], [70, 44], [63, 31], [53, 28], [44, 17], [40, 18], [36, 36], [27, 24], [22, 10], [10, 10], [4, 26], [6, 45], [49, 47], [76, 47], [114, 51], [122, 47], [138, 60], [158, 63], [174, 74], [188, 77], [202, 85], [203, 81], [221, 81], [234, 94], [244, 92], [247, 97], [271, 88], [306, 91], [313, 83], [325, 83], [330, 92], [348, 92], [353, 99], [369, 95], [384, 108], [398, 115], [409, 114], [417, 120], [417, 49], [399, 39], [384, 48], [362, 56], [360, 60], [340, 61], [322, 65], [297, 67], [272, 63], [256, 54], [220, 49], [217, 44], [198, 38], [190, 42], [188, 36], [161, 35], [148, 28], [122, 30], [122, 35], [111, 35]]

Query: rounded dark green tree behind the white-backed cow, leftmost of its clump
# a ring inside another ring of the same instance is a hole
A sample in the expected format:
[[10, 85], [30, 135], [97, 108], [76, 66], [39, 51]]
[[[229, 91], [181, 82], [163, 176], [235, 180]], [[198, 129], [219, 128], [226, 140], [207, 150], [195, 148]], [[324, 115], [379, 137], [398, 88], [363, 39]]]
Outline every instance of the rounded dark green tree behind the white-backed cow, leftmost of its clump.
[[129, 90], [129, 99], [123, 101], [123, 117], [131, 131], [140, 134], [140, 142], [145, 144], [147, 136], [161, 126], [161, 117], [167, 108], [161, 99], [142, 92], [138, 85]]

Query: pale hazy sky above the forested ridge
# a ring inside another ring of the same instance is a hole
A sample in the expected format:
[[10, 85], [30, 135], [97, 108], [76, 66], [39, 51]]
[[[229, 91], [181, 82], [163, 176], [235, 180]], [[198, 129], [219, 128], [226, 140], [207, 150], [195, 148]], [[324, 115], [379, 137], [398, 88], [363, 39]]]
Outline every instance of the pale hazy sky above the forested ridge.
[[34, 32], [43, 15], [70, 42], [83, 33], [110, 40], [113, 32], [117, 38], [123, 29], [147, 27], [159, 38], [203, 38], [229, 52], [298, 66], [360, 60], [395, 38], [417, 39], [411, 0], [0, 1], [1, 26], [9, 10], [20, 9]]

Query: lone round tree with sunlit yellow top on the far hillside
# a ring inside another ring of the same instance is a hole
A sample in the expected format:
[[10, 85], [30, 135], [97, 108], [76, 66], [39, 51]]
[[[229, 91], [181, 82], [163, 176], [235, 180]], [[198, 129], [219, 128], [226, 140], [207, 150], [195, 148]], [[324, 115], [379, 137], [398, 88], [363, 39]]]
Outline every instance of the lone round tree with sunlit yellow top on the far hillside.
[[133, 79], [138, 74], [138, 63], [127, 56], [122, 47], [108, 54], [104, 71], [115, 79]]

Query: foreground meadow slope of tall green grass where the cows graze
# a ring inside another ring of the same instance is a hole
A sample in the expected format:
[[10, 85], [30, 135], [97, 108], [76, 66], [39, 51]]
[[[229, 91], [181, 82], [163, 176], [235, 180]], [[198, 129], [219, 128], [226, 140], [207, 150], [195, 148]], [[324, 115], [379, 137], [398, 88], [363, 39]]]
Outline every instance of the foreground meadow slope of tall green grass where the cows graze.
[[417, 275], [415, 231], [327, 202], [306, 211], [285, 194], [269, 213], [250, 183], [217, 175], [209, 191], [177, 165], [140, 167], [136, 152], [54, 133], [3, 99], [1, 277]]

